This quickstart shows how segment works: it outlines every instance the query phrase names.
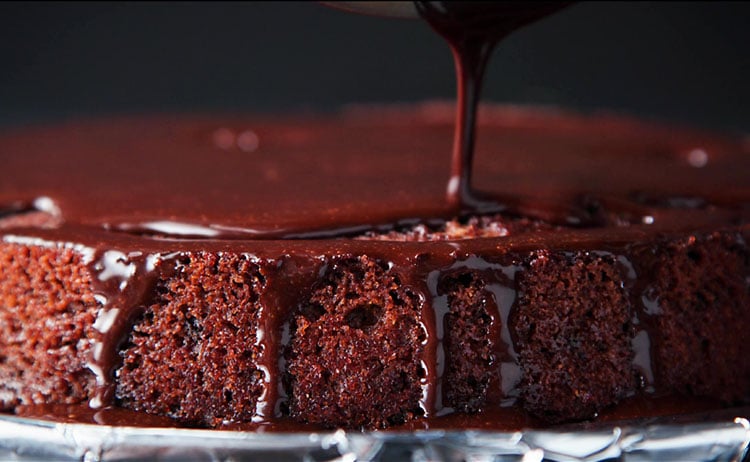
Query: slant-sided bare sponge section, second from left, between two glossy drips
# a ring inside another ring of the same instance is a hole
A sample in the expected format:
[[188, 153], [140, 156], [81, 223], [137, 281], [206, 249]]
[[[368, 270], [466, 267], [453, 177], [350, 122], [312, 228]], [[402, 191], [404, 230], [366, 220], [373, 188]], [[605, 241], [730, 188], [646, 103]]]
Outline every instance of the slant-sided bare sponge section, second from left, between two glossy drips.
[[264, 283], [249, 256], [178, 257], [121, 352], [119, 402], [188, 424], [250, 421], [266, 380], [256, 364]]

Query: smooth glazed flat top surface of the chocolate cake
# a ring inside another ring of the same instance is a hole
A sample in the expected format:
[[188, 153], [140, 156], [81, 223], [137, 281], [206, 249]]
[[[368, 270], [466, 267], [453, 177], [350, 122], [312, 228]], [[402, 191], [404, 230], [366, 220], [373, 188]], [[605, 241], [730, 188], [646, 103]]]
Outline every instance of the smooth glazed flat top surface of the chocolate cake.
[[[184, 237], [327, 237], [456, 215], [445, 201], [453, 109], [335, 116], [123, 117], [0, 135], [0, 213]], [[658, 209], [750, 203], [741, 139], [616, 116], [485, 108], [475, 187], [564, 225], [591, 202]]]

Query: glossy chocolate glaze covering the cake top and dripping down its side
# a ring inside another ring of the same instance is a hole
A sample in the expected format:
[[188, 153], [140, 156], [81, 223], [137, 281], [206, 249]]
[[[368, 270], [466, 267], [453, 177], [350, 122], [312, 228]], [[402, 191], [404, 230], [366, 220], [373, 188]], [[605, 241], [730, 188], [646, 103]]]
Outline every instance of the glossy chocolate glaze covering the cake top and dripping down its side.
[[[427, 337], [420, 403], [427, 420], [412, 425], [464, 425], [471, 418], [440, 420], [452, 413], [442, 390], [446, 307], [439, 284], [446, 275], [461, 268], [492, 274], [494, 348], [504, 366], [493, 378], [488, 406], [496, 411], [487, 411], [488, 417], [504, 413], [517, 398], [509, 313], [520, 269], [513, 254], [540, 245], [596, 249], [621, 263], [628, 284], [639, 284], [631, 264], [634, 243], [647, 246], [721, 227], [747, 235], [742, 223], [748, 223], [750, 211], [745, 178], [750, 156], [747, 145], [733, 138], [612, 117], [505, 108], [482, 115], [477, 184], [497, 194], [515, 192], [509, 218], [530, 216], [556, 226], [443, 242], [346, 237], [433, 223], [455, 212], [442, 201], [449, 172], [440, 153], [450, 139], [450, 110], [426, 106], [283, 121], [120, 119], [3, 135], [0, 203], [8, 204], [6, 213], [26, 211], [18, 204], [31, 204], [55, 218], [43, 226], [7, 227], [3, 240], [72, 247], [86, 257], [100, 303], [89, 366], [99, 385], [92, 408], [116, 403], [119, 349], [133, 320], [153, 301], [157, 279], [177, 271], [188, 252], [250, 255], [266, 281], [262, 305], [274, 307], [260, 314], [258, 366], [266, 387], [252, 425], [278, 422], [283, 428], [294, 427], [284, 424], [281, 376], [289, 323], [300, 300], [333, 258], [368, 255], [389, 262], [419, 295]], [[221, 130], [234, 134], [234, 145], [217, 144]], [[249, 131], [257, 138], [253, 152], [236, 144], [239, 134]], [[499, 147], [502, 156], [496, 155]], [[708, 162], [691, 164], [695, 150], [707, 153]], [[615, 170], [617, 175], [609, 175]], [[15, 173], [21, 171], [23, 181]], [[648, 300], [633, 304], [649, 309]], [[644, 392], [651, 394], [658, 384], [649, 370], [648, 326], [639, 322], [638, 312], [633, 324], [643, 334], [634, 344], [634, 361], [652, 387]], [[509, 409], [508, 416], [516, 417], [506, 416], [512, 426], [534, 424], [514, 412]], [[493, 425], [477, 419], [471, 426]]]

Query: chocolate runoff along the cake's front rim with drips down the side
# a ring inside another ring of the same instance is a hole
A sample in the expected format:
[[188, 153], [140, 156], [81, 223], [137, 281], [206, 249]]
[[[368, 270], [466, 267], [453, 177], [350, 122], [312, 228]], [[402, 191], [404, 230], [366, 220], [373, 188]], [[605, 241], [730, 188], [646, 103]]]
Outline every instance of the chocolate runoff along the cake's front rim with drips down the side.
[[[28, 230], [27, 230], [28, 231]], [[31, 246], [66, 246], [65, 242], [86, 242], [96, 239], [95, 230], [86, 231], [87, 237], [78, 235], [77, 231], [68, 234], [68, 230], [38, 230], [32, 234], [37, 237], [17, 237], [14, 234], [4, 236], [4, 242], [16, 245]], [[51, 240], [46, 240], [49, 234]], [[652, 329], [647, 320], [658, 315], [658, 308], [651, 305], [658, 302], [649, 300], [647, 295], [648, 280], [639, 279], [639, 272], [631, 263], [633, 254], [636, 261], [642, 254], [648, 253], [650, 244], [667, 239], [668, 236], [657, 238], [648, 236], [642, 230], [626, 229], [621, 232], [611, 229], [597, 229], [581, 236], [580, 231], [557, 233], [556, 237], [547, 239], [547, 247], [552, 253], [576, 256], [580, 249], [584, 255], [594, 258], [608, 259], [620, 272], [622, 283], [637, 286], [630, 292], [631, 300], [628, 319], [630, 329], [635, 333], [630, 339], [632, 348], [633, 373], [637, 374], [642, 383], [631, 387], [627, 395], [617, 401], [632, 398], [633, 394], [641, 397], [670, 394], [673, 390], [663, 383], [655, 382], [655, 373], [651, 367], [650, 344]], [[679, 234], [679, 233], [678, 233]], [[731, 234], [734, 235], [734, 234]], [[746, 239], [747, 230], [736, 234], [738, 238]], [[305, 299], [319, 282], [320, 275], [325, 274], [328, 267], [335, 266], [339, 261], [347, 261], [353, 255], [366, 255], [374, 261], [387, 262], [389, 272], [397, 274], [403, 287], [417, 294], [420, 300], [419, 324], [424, 330], [424, 348], [419, 353], [419, 363], [424, 368], [424, 376], [420, 380], [421, 397], [418, 400], [416, 412], [419, 419], [411, 420], [411, 426], [430, 428], [431, 425], [441, 426], [440, 417], [451, 415], [457, 411], [444, 402], [443, 377], [446, 367], [445, 358], [445, 328], [446, 315], [450, 307], [446, 294], [439, 286], [447, 278], [466, 272], [483, 273], [483, 280], [488, 282], [486, 290], [490, 297], [487, 306], [491, 313], [490, 330], [494, 331], [489, 338], [494, 342], [492, 380], [499, 383], [488, 390], [479, 409], [483, 412], [471, 417], [462, 417], [458, 421], [469, 426], [489, 425], [496, 429], [514, 429], [519, 426], [544, 425], [545, 419], [536, 420], [525, 412], [519, 411], [518, 404], [519, 381], [522, 371], [519, 369], [518, 352], [515, 339], [511, 331], [514, 324], [511, 313], [516, 310], [515, 302], [518, 297], [516, 275], [528, 271], [527, 261], [519, 258], [526, 252], [536, 249], [535, 240], [539, 236], [526, 239], [526, 236], [512, 236], [497, 239], [480, 239], [450, 242], [406, 242], [394, 247], [390, 241], [353, 241], [329, 242], [327, 240], [294, 241], [292, 245], [283, 241], [265, 241], [262, 246], [254, 246], [246, 241], [213, 242], [213, 241], [155, 241], [139, 242], [138, 239], [124, 237], [115, 239], [101, 236], [103, 241], [110, 241], [107, 247], [96, 249], [76, 244], [75, 250], [85, 256], [87, 266], [96, 287], [97, 301], [100, 303], [94, 328], [98, 331], [92, 344], [92, 355], [87, 367], [96, 376], [98, 391], [93, 393], [88, 404], [94, 409], [111, 406], [117, 402], [116, 371], [122, 368], [122, 351], [124, 341], [131, 335], [133, 325], [139, 316], [154, 303], [154, 287], [158, 280], [168, 280], [175, 272], [189, 264], [190, 255], [194, 252], [217, 252], [218, 254], [241, 254], [251, 262], [257, 264], [265, 277], [264, 295], [262, 301], [265, 311], [258, 322], [258, 340], [261, 357], [255, 358], [254, 366], [263, 371], [265, 388], [255, 404], [255, 412], [246, 421], [228, 420], [223, 425], [234, 425], [236, 428], [253, 428], [250, 423], [274, 424], [281, 429], [291, 429], [293, 424], [288, 421], [288, 411], [283, 407], [288, 405], [289, 396], [284, 389], [285, 353], [290, 346], [291, 336], [294, 335], [291, 323], [299, 310], [305, 306]], [[574, 238], [575, 240], [571, 239]], [[639, 240], [640, 239], [640, 240]], [[503, 241], [502, 244], [498, 241]], [[558, 241], [558, 242], [555, 242]], [[499, 247], [512, 249], [512, 252], [500, 251]], [[257, 247], [257, 248], [256, 248]], [[109, 248], [109, 250], [103, 250]], [[116, 248], [118, 250], [112, 250]], [[598, 249], [591, 251], [589, 249]], [[131, 250], [137, 249], [137, 250]], [[157, 249], [160, 249], [157, 251]], [[252, 250], [251, 250], [252, 249]], [[605, 250], [606, 249], [606, 250]], [[644, 250], [645, 249], [645, 250]], [[506, 255], [508, 252], [509, 255]], [[281, 255], [280, 257], [273, 257]], [[291, 255], [291, 256], [290, 256]], [[492, 255], [481, 257], [477, 255]], [[630, 311], [632, 310], [632, 311]], [[658, 332], [656, 333], [658, 335]], [[634, 376], [635, 378], [635, 376]], [[741, 393], [741, 390], [738, 391]], [[121, 397], [120, 397], [121, 398]], [[716, 398], [710, 399], [711, 405], [716, 405]], [[417, 404], [417, 403], [414, 403]], [[706, 405], [705, 403], [703, 405]], [[685, 407], [674, 403], [668, 411], [683, 411], [685, 409], [701, 408], [701, 402], [688, 399]], [[658, 405], [656, 406], [658, 409]], [[609, 410], [612, 416], [616, 411]], [[43, 408], [44, 409], [44, 408]], [[503, 413], [503, 409], [507, 409]], [[31, 411], [22, 412], [33, 412]], [[504, 420], [492, 422], [494, 416], [503, 416]], [[666, 411], [663, 411], [666, 412]], [[593, 417], [596, 414], [587, 417]], [[422, 419], [426, 418], [427, 420]], [[137, 422], [135, 415], [127, 417], [131, 423]], [[437, 419], [437, 420], [436, 420]], [[182, 419], [180, 419], [182, 420]], [[578, 419], [574, 419], [578, 420]], [[183, 424], [206, 425], [206, 422], [188, 421]], [[245, 424], [244, 426], [238, 424]], [[211, 426], [215, 426], [213, 423]], [[349, 426], [347, 424], [342, 424]], [[357, 426], [357, 425], [355, 425]], [[368, 425], [364, 425], [367, 427]], [[296, 427], [305, 428], [305, 427]]]

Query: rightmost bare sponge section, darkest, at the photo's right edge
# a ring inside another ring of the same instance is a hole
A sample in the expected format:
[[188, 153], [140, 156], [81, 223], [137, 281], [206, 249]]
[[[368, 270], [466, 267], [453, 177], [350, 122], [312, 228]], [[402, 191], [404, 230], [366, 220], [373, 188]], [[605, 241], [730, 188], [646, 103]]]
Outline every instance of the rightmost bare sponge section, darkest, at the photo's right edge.
[[663, 391], [750, 398], [750, 251], [741, 233], [697, 234], [646, 249], [641, 300]]

